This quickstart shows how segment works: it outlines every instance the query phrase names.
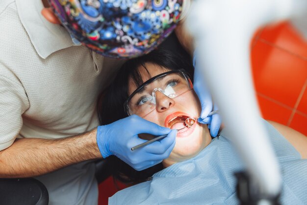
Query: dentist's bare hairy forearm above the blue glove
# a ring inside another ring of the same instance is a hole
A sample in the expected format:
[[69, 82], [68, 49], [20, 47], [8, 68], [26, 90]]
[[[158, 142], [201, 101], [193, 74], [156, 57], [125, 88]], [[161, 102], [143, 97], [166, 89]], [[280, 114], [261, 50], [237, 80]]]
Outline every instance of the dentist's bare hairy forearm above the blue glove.
[[0, 177], [39, 176], [90, 159], [101, 158], [96, 129], [62, 139], [16, 139], [0, 151]]

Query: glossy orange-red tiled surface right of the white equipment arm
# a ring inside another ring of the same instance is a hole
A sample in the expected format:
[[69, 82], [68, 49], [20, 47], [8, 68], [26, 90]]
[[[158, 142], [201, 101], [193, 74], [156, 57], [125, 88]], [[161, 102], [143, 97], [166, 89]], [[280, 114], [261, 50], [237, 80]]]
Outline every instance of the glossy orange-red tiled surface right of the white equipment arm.
[[263, 117], [307, 135], [307, 39], [281, 22], [259, 29], [251, 49]]

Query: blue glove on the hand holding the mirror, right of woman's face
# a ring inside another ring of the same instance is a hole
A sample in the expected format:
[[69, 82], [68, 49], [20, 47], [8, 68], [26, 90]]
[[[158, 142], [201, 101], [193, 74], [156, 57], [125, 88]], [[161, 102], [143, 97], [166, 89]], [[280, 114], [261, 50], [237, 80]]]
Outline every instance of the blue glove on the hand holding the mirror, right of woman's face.
[[201, 117], [198, 118], [198, 121], [203, 124], [208, 124], [211, 136], [216, 137], [221, 126], [221, 117], [219, 114], [214, 114], [212, 116], [207, 117], [211, 111], [218, 110], [218, 108], [215, 104], [213, 107], [211, 94], [205, 85], [205, 80], [201, 73], [201, 68], [198, 66], [196, 61], [197, 55], [195, 51], [193, 55], [193, 65], [195, 68], [193, 87], [202, 105], [202, 113]]

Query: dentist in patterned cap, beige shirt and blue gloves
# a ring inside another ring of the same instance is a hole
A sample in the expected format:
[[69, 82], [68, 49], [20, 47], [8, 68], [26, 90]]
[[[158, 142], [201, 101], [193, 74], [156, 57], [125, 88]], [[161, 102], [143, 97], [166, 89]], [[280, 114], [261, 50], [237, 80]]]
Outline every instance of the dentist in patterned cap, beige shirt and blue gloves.
[[[143, 170], [175, 146], [176, 131], [138, 116], [98, 126], [96, 101], [123, 59], [148, 53], [175, 28], [182, 1], [50, 2], [0, 3], [0, 177], [37, 178], [48, 189], [50, 205], [93, 205], [98, 201], [94, 159], [116, 155]], [[138, 15], [131, 19], [128, 11]], [[107, 23], [116, 15], [123, 24]], [[98, 16], [103, 19], [96, 21]], [[206, 99], [205, 116], [211, 98], [201, 86], [199, 93], [206, 93], [200, 97]], [[140, 133], [168, 137], [131, 152], [143, 142]]]

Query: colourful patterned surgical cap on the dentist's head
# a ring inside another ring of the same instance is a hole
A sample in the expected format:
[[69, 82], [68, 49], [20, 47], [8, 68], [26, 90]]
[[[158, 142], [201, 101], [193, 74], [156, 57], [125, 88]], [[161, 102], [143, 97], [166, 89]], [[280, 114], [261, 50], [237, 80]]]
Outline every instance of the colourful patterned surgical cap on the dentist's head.
[[49, 0], [64, 27], [83, 45], [128, 59], [157, 47], [176, 27], [183, 0]]

